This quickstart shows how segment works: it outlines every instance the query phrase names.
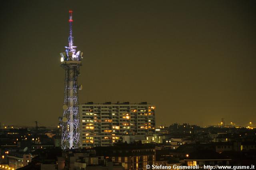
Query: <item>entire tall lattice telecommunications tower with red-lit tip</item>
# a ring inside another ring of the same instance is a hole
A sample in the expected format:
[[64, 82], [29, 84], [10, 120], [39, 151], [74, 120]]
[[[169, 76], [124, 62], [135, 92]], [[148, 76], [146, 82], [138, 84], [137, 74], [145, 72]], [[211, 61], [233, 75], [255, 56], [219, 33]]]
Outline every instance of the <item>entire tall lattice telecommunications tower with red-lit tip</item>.
[[78, 85], [77, 77], [83, 53], [76, 51], [72, 36], [72, 10], [69, 11], [69, 37], [66, 51], [60, 53], [61, 67], [65, 70], [64, 83], [64, 104], [63, 116], [59, 117], [59, 125], [62, 127], [61, 148], [80, 148], [80, 123], [79, 123], [79, 103], [78, 89], [82, 90], [82, 85]]

